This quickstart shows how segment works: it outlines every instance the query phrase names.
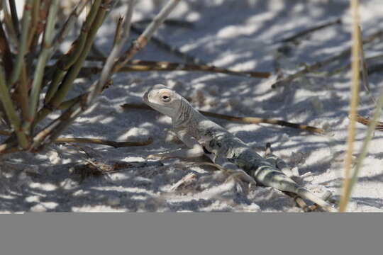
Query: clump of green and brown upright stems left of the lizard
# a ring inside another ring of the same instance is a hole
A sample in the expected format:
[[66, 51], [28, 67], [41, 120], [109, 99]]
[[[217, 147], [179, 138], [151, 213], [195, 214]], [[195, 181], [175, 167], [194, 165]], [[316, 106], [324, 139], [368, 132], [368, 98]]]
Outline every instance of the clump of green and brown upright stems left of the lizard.
[[[118, 21], [113, 48], [106, 57], [99, 79], [89, 86], [86, 93], [65, 101], [87, 60], [97, 31], [118, 2], [79, 1], [67, 21], [60, 26], [57, 21], [58, 0], [26, 0], [21, 20], [17, 16], [15, 0], [9, 0], [8, 4], [4, 1], [0, 26], [0, 118], [8, 129], [0, 130], [0, 135], [9, 137], [0, 144], [0, 155], [34, 152], [57, 140], [62, 131], [94, 103], [96, 96], [108, 86], [111, 75], [146, 45], [179, 0], [169, 1], [143, 34], [122, 53], [135, 0], [121, 1], [128, 8], [125, 17]], [[60, 53], [57, 49], [85, 6], [87, 16], [79, 35], [67, 53]], [[56, 26], [60, 27], [57, 31]], [[55, 64], [48, 64], [53, 56]], [[59, 110], [63, 111], [59, 118], [45, 127], [39, 125], [50, 113]]]

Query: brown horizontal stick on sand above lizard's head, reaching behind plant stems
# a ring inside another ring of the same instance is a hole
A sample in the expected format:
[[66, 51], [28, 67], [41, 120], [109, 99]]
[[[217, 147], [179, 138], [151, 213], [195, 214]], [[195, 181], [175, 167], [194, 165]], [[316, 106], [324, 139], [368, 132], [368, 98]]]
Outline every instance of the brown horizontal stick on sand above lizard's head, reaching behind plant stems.
[[[99, 58], [97, 58], [99, 59]], [[102, 58], [101, 58], [102, 59]], [[101, 71], [101, 67], [83, 67], [83, 74], [96, 74]], [[156, 62], [146, 60], [131, 60], [118, 72], [149, 72], [149, 71], [196, 71], [196, 72], [215, 72], [220, 74], [231, 74], [253, 78], [268, 78], [270, 72], [242, 72], [231, 69], [223, 69], [209, 65], [182, 64], [177, 62]]]

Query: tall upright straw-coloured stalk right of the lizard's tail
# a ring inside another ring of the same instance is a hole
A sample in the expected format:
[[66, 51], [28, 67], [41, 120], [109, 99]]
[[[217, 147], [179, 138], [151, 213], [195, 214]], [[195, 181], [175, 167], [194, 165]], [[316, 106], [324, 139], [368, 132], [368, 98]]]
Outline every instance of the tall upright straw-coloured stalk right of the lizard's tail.
[[359, 91], [359, 56], [360, 56], [360, 33], [359, 33], [359, 9], [358, 1], [350, 0], [351, 15], [353, 16], [353, 32], [352, 32], [352, 62], [351, 70], [353, 76], [351, 79], [351, 99], [350, 99], [350, 123], [348, 124], [347, 149], [344, 163], [344, 176], [342, 183], [342, 194], [340, 196], [339, 212], [345, 212], [348, 203], [348, 191], [350, 190], [350, 172], [351, 162], [353, 159], [353, 142], [355, 139], [355, 122], [358, 103]]

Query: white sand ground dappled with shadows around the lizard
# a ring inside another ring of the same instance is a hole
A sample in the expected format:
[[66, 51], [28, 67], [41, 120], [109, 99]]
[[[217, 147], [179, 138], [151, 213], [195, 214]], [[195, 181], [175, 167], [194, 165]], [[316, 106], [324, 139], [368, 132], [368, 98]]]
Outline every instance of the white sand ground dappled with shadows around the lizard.
[[[191, 21], [194, 28], [162, 27], [157, 35], [218, 67], [240, 71], [274, 72], [277, 60], [284, 74], [294, 72], [301, 63], [313, 63], [338, 54], [350, 45], [348, 1], [188, 1], [177, 6], [171, 18]], [[134, 19], [151, 18], [159, 10], [152, 1], [141, 1]], [[119, 12], [123, 13], [123, 8]], [[382, 1], [362, 1], [360, 16], [363, 34], [368, 35], [382, 24]], [[290, 55], [277, 54], [282, 38], [318, 23], [342, 18], [343, 24], [311, 33], [291, 45]], [[101, 28], [97, 45], [109, 52], [113, 25]], [[380, 27], [380, 29], [382, 29]], [[137, 35], [133, 34], [134, 37]], [[366, 57], [377, 55], [383, 44], [365, 47]], [[135, 59], [179, 61], [172, 53], [149, 44]], [[339, 67], [336, 65], [335, 67]], [[329, 69], [334, 68], [330, 67]], [[96, 79], [96, 76], [93, 77]], [[306, 174], [303, 184], [318, 194], [340, 193], [342, 154], [349, 120], [348, 100], [350, 73], [332, 77], [307, 74], [284, 89], [272, 90], [269, 80], [234, 77], [204, 72], [123, 73], [113, 77], [113, 86], [104, 91], [99, 102], [66, 130], [64, 137], [96, 137], [123, 142], [145, 140], [146, 147], [114, 149], [103, 145], [79, 145], [89, 156], [71, 145], [52, 145], [39, 154], [11, 154], [1, 159], [0, 212], [28, 211], [301, 211], [294, 200], [272, 188], [252, 187], [246, 194], [236, 193], [224, 176], [207, 166], [190, 166], [179, 159], [118, 171], [109, 176], [89, 177], [79, 182], [70, 174], [85, 159], [99, 162], [144, 162], [150, 153], [176, 149], [177, 142], [165, 140], [170, 118], [154, 111], [123, 110], [123, 103], [141, 103], [143, 93], [153, 84], [163, 83], [189, 96], [196, 108], [238, 116], [278, 118], [326, 128], [332, 136], [313, 135], [273, 125], [246, 125], [215, 121], [244, 142], [262, 152], [267, 142], [274, 153]], [[70, 96], [84, 91], [91, 81], [79, 79]], [[370, 77], [372, 94], [382, 88], [382, 74]], [[361, 93], [359, 113], [369, 115], [370, 99]], [[57, 115], [51, 118], [57, 117]], [[383, 116], [381, 120], [383, 119]], [[357, 124], [355, 155], [365, 136], [365, 126]], [[383, 133], [376, 132], [360, 179], [350, 201], [350, 211], [383, 209]], [[198, 162], [194, 160], [191, 162]], [[311, 173], [311, 174], [308, 174]], [[170, 188], [184, 176], [195, 175], [194, 182]]]

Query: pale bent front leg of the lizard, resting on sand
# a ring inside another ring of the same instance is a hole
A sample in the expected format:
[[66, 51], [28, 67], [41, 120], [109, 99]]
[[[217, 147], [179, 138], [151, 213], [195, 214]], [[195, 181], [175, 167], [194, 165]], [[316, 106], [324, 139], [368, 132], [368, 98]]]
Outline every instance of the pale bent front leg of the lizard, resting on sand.
[[199, 144], [199, 142], [194, 138], [188, 135], [187, 130], [174, 130], [175, 134], [181, 140], [184, 145], [187, 146], [187, 149], [177, 149], [172, 152], [164, 152], [159, 154], [150, 154], [147, 159], [170, 159], [174, 157], [193, 159], [196, 157], [201, 157], [204, 155], [204, 148]]

